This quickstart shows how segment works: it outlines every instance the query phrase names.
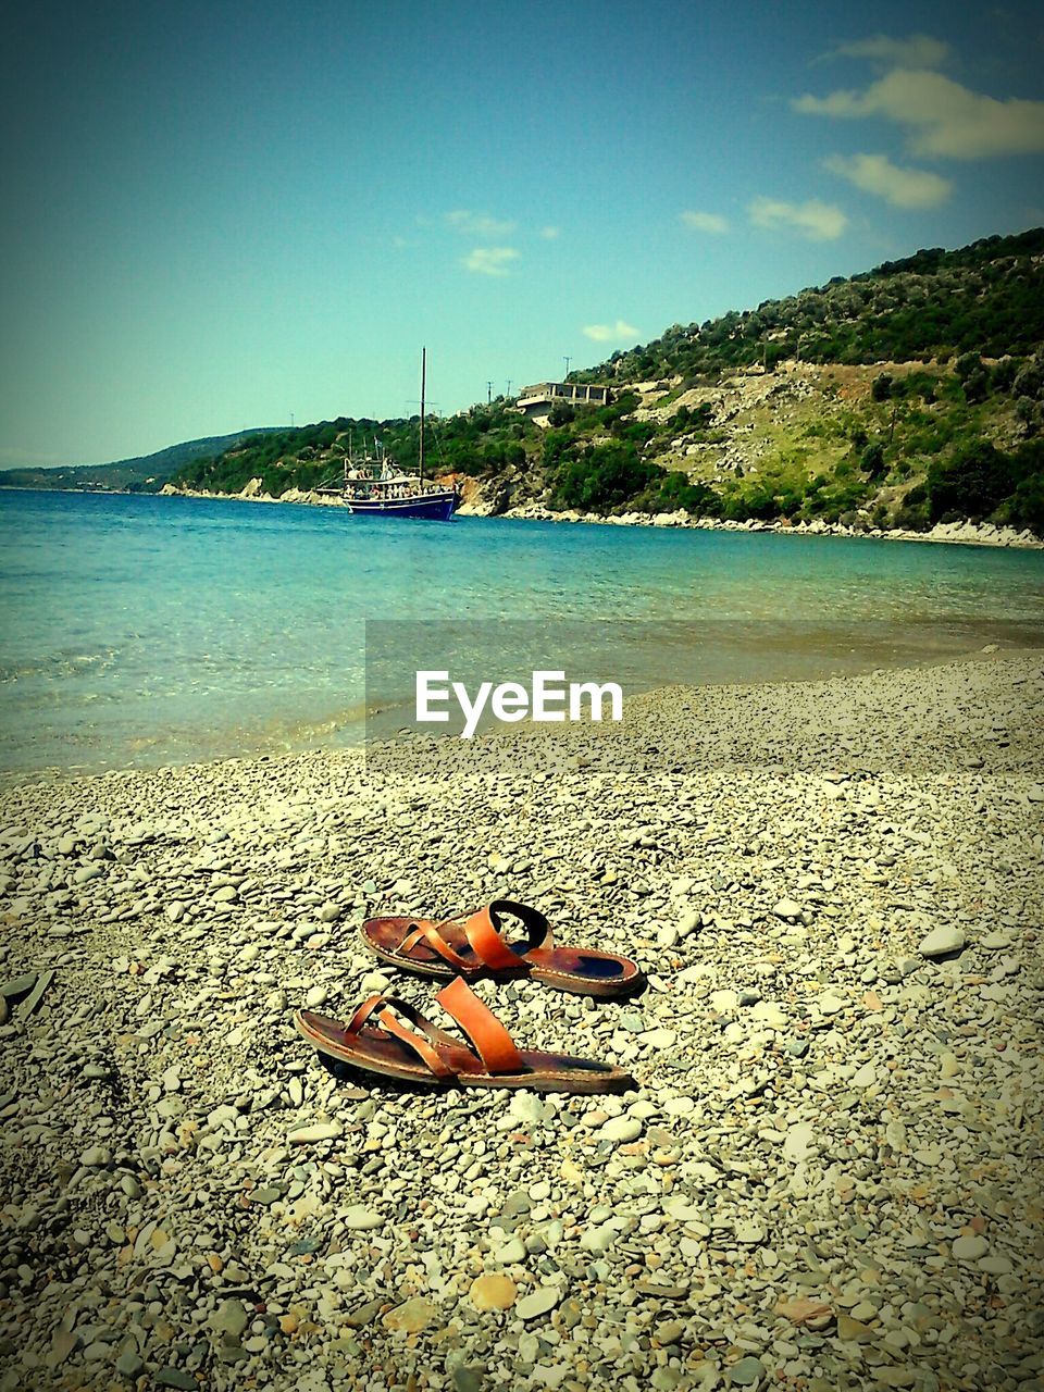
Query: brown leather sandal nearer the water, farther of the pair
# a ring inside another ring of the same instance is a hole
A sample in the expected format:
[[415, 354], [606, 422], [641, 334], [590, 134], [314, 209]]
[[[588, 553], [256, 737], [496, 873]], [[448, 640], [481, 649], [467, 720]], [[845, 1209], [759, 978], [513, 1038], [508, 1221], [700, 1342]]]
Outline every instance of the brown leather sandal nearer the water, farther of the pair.
[[[504, 917], [519, 919], [522, 942], [508, 944]], [[547, 919], [537, 909], [497, 899], [470, 917], [369, 919], [362, 926], [366, 947], [381, 962], [418, 976], [468, 981], [483, 977], [532, 977], [576, 995], [632, 995], [644, 977], [628, 958], [593, 948], [557, 948]]]

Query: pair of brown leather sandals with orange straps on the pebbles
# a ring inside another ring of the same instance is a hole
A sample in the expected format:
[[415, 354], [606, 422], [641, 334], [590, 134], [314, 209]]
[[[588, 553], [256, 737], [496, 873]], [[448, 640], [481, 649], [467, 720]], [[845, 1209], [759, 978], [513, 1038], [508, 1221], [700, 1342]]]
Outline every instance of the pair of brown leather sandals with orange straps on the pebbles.
[[[509, 919], [523, 926], [526, 935], [521, 941], [508, 941]], [[628, 958], [555, 947], [544, 915], [509, 899], [498, 899], [470, 917], [441, 922], [370, 919], [362, 934], [370, 952], [388, 966], [450, 980], [436, 999], [470, 1044], [432, 1025], [406, 1001], [379, 994], [363, 1001], [347, 1025], [298, 1011], [298, 1030], [322, 1054], [404, 1083], [528, 1087], [537, 1093], [635, 1087], [631, 1075], [611, 1063], [516, 1048], [468, 984], [529, 979], [576, 995], [619, 998], [644, 984]]]

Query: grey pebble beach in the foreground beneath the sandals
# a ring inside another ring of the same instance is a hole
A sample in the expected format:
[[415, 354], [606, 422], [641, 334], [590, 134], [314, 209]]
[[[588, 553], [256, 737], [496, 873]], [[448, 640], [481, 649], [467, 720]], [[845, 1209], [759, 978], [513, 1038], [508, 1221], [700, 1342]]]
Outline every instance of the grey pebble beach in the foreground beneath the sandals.
[[[1044, 1388], [1043, 715], [1023, 654], [8, 788], [0, 1389]], [[294, 1033], [504, 894], [646, 966], [482, 988], [638, 1091]]]

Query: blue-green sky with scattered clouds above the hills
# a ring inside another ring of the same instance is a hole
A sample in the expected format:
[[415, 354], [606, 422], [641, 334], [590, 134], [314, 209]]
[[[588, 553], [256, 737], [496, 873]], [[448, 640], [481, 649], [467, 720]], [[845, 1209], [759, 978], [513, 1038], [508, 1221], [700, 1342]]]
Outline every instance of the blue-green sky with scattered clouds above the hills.
[[1036, 6], [15, 4], [0, 466], [451, 412], [1044, 223]]

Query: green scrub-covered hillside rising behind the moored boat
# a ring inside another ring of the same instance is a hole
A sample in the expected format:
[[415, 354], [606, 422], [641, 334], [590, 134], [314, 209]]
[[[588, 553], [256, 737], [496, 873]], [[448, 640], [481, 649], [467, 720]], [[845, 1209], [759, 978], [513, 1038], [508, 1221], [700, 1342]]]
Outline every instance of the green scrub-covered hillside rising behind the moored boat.
[[[615, 398], [555, 406], [547, 430], [503, 398], [438, 425], [432, 464], [468, 476], [472, 511], [1044, 532], [1044, 228], [675, 324], [571, 380]], [[341, 418], [196, 459], [174, 483], [296, 497], [374, 434], [413, 466], [416, 418]]]

